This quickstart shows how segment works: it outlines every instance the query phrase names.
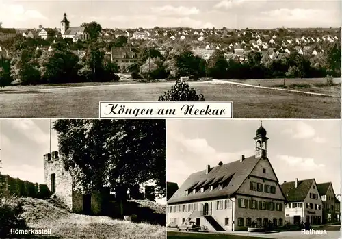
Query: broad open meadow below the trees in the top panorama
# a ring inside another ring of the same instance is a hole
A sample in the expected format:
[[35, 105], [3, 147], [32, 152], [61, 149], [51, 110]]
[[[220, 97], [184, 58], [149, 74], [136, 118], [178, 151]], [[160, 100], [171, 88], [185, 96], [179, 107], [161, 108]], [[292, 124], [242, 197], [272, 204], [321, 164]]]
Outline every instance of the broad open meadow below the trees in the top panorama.
[[[257, 85], [258, 81], [263, 81], [262, 86], [269, 86], [267, 84], [270, 82], [277, 85], [281, 80], [253, 79], [239, 82], [251, 84], [250, 81], [253, 81]], [[295, 79], [288, 80], [290, 84]], [[298, 84], [313, 84], [311, 82], [324, 83], [325, 79], [298, 79]], [[0, 118], [98, 118], [99, 101], [157, 101], [159, 95], [173, 84], [93, 84], [92, 87], [79, 88], [69, 88], [70, 84], [53, 88], [10, 87], [7, 92], [0, 92]], [[233, 101], [234, 118], [340, 118], [340, 86], [313, 87], [314, 92], [325, 92], [337, 97], [207, 82], [190, 82], [190, 86], [205, 95], [206, 101]]]

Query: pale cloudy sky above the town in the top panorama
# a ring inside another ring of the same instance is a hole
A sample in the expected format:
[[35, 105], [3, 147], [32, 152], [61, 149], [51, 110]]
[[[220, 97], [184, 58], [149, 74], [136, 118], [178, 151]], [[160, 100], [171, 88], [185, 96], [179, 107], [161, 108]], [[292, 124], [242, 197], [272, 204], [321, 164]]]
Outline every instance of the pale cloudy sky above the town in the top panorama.
[[60, 27], [97, 21], [102, 27], [339, 27], [341, 1], [321, 0], [0, 0], [3, 27]]

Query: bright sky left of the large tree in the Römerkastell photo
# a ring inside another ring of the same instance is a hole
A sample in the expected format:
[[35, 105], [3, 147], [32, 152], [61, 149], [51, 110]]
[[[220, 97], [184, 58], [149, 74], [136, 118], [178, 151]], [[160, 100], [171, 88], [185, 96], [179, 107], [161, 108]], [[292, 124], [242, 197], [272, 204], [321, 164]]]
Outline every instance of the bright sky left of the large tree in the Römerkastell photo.
[[[1, 120], [1, 173], [44, 184], [43, 155], [50, 151], [48, 119]], [[51, 130], [51, 151], [58, 150]]]

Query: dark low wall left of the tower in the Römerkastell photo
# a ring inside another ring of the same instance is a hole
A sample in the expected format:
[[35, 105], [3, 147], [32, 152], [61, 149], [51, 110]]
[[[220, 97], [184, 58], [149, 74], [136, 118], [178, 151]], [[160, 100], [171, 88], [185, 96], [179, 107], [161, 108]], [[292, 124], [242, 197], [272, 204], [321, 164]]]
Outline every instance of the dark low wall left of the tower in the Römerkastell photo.
[[50, 197], [50, 190], [45, 184], [34, 184], [0, 174], [0, 194], [47, 199]]

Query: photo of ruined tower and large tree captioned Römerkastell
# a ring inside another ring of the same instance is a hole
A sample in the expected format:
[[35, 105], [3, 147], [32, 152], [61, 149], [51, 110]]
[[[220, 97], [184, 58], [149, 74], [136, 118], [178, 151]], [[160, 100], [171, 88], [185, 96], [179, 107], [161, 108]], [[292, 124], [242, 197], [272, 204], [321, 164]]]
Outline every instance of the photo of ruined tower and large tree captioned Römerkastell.
[[0, 238], [166, 237], [165, 121], [1, 125]]

